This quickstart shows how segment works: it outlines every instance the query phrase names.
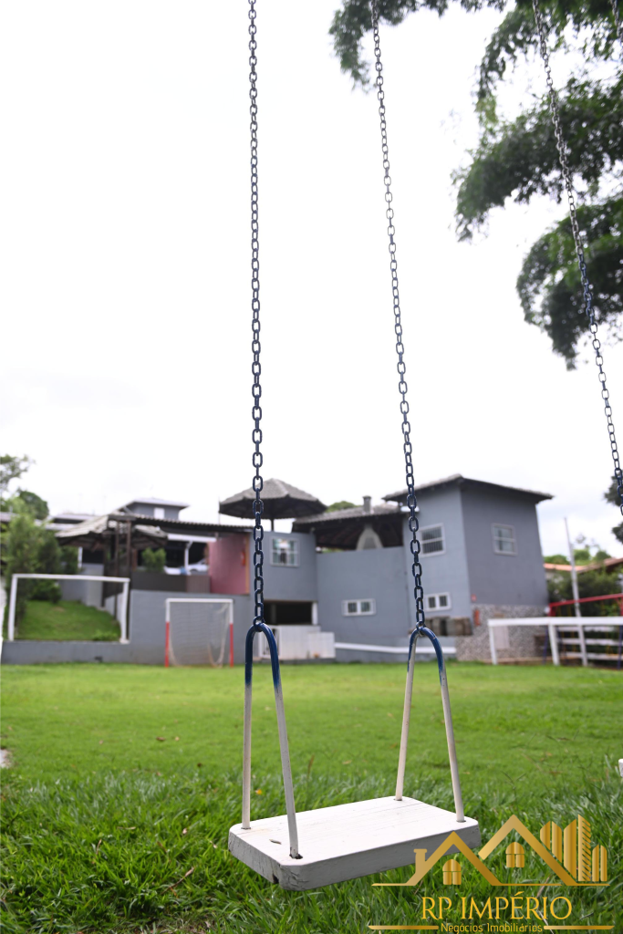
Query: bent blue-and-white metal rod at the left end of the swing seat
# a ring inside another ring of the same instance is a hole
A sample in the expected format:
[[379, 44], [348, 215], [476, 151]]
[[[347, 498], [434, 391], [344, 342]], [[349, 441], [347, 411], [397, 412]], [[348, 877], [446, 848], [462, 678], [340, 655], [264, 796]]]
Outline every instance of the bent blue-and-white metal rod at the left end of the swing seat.
[[251, 686], [253, 677], [253, 639], [255, 638], [256, 632], [263, 632], [268, 641], [268, 647], [270, 648], [273, 685], [275, 686], [276, 723], [279, 731], [279, 749], [281, 751], [281, 771], [283, 772], [283, 789], [286, 794], [286, 814], [288, 814], [288, 832], [290, 834], [290, 856], [293, 859], [299, 859], [299, 835], [296, 828], [294, 788], [292, 786], [288, 730], [286, 729], [286, 712], [283, 706], [283, 692], [281, 690], [279, 657], [273, 631], [270, 630], [265, 623], [251, 626], [247, 633], [247, 643], [245, 647], [245, 733], [242, 754], [242, 826], [245, 830], [248, 830], [251, 826]]

